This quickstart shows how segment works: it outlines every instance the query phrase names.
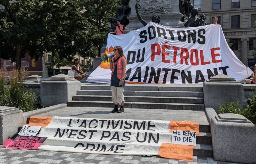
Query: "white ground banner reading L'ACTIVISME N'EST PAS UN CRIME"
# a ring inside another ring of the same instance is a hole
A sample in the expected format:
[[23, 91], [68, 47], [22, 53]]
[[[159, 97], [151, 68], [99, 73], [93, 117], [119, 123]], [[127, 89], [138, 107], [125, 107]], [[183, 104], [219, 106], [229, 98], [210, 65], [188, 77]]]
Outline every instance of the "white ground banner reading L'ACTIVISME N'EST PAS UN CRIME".
[[54, 117], [41, 129], [39, 150], [120, 155], [157, 155], [171, 143], [170, 121]]

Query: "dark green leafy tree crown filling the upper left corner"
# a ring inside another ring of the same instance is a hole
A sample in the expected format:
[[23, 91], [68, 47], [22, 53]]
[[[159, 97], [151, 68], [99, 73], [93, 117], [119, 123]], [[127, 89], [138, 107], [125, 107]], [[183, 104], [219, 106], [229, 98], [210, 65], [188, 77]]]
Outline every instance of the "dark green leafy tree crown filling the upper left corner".
[[89, 32], [95, 29], [82, 15], [81, 2], [76, 0], [0, 0], [0, 57], [16, 61], [29, 53], [38, 59], [51, 52], [58, 59], [71, 60], [78, 51], [85, 51]]

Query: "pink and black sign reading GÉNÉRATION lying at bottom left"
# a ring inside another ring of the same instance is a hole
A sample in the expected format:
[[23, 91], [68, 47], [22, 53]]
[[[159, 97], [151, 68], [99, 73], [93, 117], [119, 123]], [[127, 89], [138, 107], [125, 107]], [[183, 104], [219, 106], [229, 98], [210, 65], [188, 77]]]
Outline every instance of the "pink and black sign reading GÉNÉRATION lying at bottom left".
[[46, 140], [46, 137], [15, 135], [6, 140], [3, 145], [11, 149], [37, 149]]

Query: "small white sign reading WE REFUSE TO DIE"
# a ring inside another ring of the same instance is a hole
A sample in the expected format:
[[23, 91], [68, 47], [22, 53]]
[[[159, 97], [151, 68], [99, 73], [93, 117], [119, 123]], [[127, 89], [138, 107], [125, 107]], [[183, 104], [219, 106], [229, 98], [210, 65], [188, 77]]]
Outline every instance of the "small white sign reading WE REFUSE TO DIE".
[[172, 130], [172, 143], [196, 146], [196, 132]]

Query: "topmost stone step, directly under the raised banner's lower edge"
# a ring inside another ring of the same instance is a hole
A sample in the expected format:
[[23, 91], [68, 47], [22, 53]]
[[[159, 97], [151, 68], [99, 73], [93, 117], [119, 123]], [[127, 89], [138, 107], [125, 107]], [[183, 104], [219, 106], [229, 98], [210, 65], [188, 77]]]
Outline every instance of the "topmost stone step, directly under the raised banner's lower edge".
[[[109, 84], [103, 85], [84, 85], [81, 86], [81, 90], [100, 90], [100, 91], [109, 91], [111, 86]], [[152, 85], [126, 85], [126, 91], [190, 91], [190, 92], [202, 92], [203, 87], [200, 86], [154, 86]]]

